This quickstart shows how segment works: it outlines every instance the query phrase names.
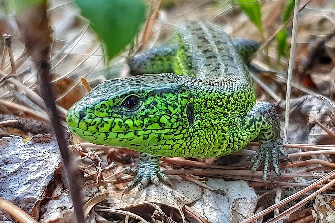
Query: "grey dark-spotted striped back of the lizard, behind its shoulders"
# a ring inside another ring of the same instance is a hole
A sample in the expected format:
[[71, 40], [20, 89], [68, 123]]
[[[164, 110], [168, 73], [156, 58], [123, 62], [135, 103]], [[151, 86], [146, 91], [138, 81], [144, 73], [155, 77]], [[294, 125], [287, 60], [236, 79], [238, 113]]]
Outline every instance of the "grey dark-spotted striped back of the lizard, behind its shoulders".
[[173, 41], [179, 45], [175, 73], [216, 82], [234, 77], [239, 83], [252, 83], [233, 42], [218, 25], [184, 24], [176, 28]]

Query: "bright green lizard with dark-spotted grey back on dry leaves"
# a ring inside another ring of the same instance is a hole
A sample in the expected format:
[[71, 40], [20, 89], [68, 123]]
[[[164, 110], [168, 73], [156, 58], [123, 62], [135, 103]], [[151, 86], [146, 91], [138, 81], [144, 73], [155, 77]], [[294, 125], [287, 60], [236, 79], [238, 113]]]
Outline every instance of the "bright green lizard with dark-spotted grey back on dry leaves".
[[136, 185], [142, 189], [150, 180], [169, 182], [158, 157], [224, 156], [251, 141], [261, 145], [252, 171], [264, 164], [267, 180], [272, 164], [279, 176], [277, 112], [268, 102], [255, 102], [248, 68], [224, 31], [211, 23], [191, 22], [176, 29], [171, 45], [178, 46], [172, 53], [158, 49], [154, 66], [151, 58], [133, 70], [138, 74], [172, 67], [174, 73], [101, 83], [68, 111], [70, 130], [95, 144], [140, 152], [136, 170], [125, 169], [136, 175], [125, 191]]

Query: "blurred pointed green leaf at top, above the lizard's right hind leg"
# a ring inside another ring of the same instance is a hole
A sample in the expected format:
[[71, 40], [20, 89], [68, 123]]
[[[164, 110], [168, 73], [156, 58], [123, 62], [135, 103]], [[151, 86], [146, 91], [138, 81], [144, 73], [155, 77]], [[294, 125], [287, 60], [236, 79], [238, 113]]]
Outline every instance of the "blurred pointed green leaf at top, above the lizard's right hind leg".
[[250, 21], [261, 31], [262, 19], [260, 4], [256, 0], [236, 0], [236, 2], [240, 4], [241, 10], [247, 14]]

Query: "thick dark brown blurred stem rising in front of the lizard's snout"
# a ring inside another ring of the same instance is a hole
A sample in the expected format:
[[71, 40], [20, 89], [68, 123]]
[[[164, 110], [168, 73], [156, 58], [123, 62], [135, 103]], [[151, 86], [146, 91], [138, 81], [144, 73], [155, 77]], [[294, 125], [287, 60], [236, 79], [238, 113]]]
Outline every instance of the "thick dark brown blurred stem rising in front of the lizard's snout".
[[72, 198], [76, 220], [78, 223], [84, 223], [85, 218], [82, 210], [83, 204], [78, 183], [80, 182], [80, 175], [77, 174], [74, 161], [70, 158], [67, 150], [67, 142], [63, 135], [63, 128], [54, 102], [55, 97], [49, 83], [49, 52], [50, 43], [52, 42], [50, 34], [52, 30], [49, 26], [46, 10], [47, 3], [46, 0], [43, 0], [40, 1], [39, 4], [35, 4], [34, 7], [27, 8], [23, 12], [17, 14], [15, 19], [27, 51], [32, 57], [38, 70], [40, 94], [48, 108], [49, 118], [62, 155], [65, 169], [64, 175], [68, 181], [68, 188]]

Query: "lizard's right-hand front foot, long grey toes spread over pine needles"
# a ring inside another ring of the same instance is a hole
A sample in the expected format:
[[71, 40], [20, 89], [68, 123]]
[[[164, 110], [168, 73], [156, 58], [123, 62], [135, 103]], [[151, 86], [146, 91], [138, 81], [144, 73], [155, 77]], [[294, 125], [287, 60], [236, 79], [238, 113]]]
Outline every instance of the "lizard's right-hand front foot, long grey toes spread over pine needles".
[[251, 168], [252, 172], [256, 172], [257, 168], [264, 165], [263, 168], [263, 181], [267, 181], [268, 179], [268, 167], [269, 165], [273, 165], [274, 172], [277, 176], [281, 175], [281, 171], [278, 163], [278, 156], [282, 155], [285, 158], [287, 154], [284, 152], [284, 147], [282, 140], [278, 140], [277, 143], [267, 143], [261, 144], [258, 149], [256, 155], [252, 158], [253, 167]]

